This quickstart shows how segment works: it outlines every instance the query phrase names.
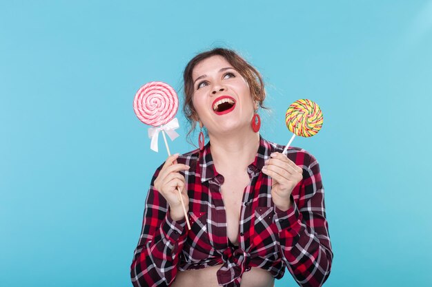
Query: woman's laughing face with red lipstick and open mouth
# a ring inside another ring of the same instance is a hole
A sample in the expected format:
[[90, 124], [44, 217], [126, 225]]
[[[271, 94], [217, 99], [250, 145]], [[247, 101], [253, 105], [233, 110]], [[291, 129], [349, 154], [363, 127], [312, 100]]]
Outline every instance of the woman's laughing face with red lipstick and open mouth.
[[211, 56], [192, 72], [193, 106], [209, 134], [248, 128], [257, 108], [246, 80], [223, 56]]

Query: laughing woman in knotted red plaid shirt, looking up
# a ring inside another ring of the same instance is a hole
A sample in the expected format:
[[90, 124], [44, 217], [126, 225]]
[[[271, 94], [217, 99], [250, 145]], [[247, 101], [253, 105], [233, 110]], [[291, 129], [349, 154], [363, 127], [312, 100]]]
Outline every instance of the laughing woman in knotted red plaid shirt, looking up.
[[[262, 78], [232, 50], [193, 58], [184, 112], [204, 146], [155, 172], [130, 270], [134, 286], [273, 286], [285, 267], [322, 286], [333, 252], [317, 160], [259, 136]], [[191, 229], [176, 188], [188, 211]]]

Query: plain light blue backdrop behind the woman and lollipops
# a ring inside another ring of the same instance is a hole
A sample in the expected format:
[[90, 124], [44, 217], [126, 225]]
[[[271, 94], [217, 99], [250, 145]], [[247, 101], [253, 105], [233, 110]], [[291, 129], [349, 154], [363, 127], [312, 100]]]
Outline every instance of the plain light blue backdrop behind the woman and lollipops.
[[[155, 168], [132, 99], [181, 95], [197, 52], [223, 45], [266, 81], [262, 134], [288, 105], [324, 127], [319, 160], [335, 254], [326, 286], [426, 286], [432, 1], [0, 1], [0, 285], [131, 286]], [[182, 135], [173, 152], [193, 147]], [[288, 271], [276, 286], [297, 286]]]

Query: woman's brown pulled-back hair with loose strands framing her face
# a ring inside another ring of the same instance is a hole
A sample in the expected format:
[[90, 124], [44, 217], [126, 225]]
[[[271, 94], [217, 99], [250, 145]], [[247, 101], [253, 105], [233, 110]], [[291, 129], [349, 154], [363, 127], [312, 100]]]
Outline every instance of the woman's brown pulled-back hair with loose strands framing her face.
[[195, 129], [197, 125], [197, 111], [193, 106], [192, 98], [194, 92], [192, 72], [195, 66], [201, 61], [210, 58], [211, 56], [223, 56], [230, 65], [234, 67], [237, 72], [246, 80], [251, 90], [251, 96], [254, 102], [259, 103], [259, 107], [266, 108], [263, 105], [264, 98], [266, 98], [266, 92], [264, 90], [264, 82], [262, 76], [251, 64], [246, 62], [242, 56], [239, 56], [237, 52], [228, 50], [222, 47], [217, 47], [213, 50], [202, 52], [193, 57], [189, 61], [188, 65], [184, 69], [183, 80], [184, 80], [184, 105], [183, 111], [188, 122], [190, 123], [190, 129], [188, 136]]

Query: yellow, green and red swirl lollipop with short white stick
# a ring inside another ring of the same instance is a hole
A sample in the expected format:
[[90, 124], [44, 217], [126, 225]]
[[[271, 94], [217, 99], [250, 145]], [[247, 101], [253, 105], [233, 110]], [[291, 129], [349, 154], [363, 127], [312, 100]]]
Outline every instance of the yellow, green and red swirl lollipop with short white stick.
[[312, 100], [301, 99], [292, 103], [286, 110], [285, 123], [293, 136], [282, 153], [291, 145], [295, 135], [305, 138], [315, 136], [320, 131], [323, 120], [320, 106]]

